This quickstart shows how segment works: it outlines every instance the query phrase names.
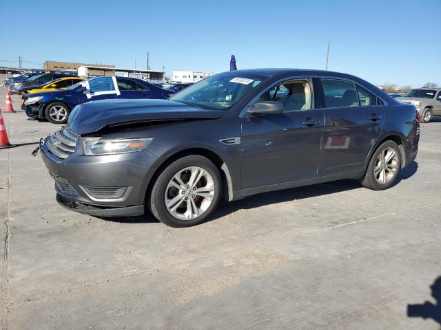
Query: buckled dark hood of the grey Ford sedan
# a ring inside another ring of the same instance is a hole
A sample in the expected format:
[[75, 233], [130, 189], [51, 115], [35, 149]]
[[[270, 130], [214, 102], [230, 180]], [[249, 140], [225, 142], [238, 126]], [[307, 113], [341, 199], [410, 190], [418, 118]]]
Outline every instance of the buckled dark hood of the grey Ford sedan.
[[139, 122], [220, 118], [225, 111], [205, 110], [171, 100], [99, 100], [75, 107], [70, 128], [79, 135]]

